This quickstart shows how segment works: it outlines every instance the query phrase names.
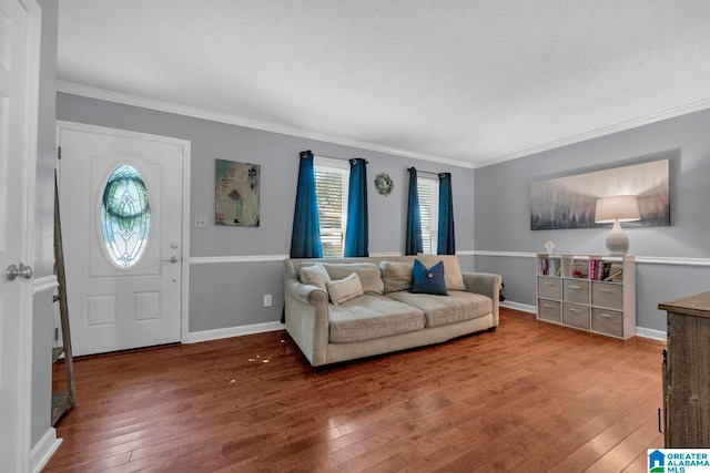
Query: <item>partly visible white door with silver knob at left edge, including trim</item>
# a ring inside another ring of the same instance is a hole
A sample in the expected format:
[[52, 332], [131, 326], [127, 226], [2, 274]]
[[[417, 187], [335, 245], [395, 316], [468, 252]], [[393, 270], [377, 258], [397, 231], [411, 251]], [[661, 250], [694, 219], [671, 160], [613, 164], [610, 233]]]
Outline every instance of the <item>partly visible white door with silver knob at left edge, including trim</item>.
[[[0, 2], [0, 471], [30, 460], [40, 9]], [[49, 360], [48, 360], [49, 362]], [[49, 402], [49, 400], [48, 400]], [[49, 409], [49, 404], [48, 404]]]

